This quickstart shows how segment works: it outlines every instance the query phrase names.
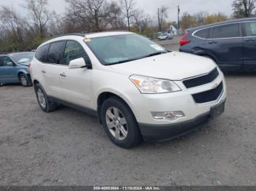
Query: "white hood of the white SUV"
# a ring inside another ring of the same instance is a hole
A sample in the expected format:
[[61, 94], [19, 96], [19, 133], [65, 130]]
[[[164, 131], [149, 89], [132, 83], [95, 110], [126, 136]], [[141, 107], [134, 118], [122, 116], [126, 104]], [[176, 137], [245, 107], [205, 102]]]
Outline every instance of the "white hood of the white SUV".
[[217, 67], [216, 63], [211, 59], [183, 52], [169, 52], [110, 66], [111, 69], [129, 75], [138, 74], [177, 81], [206, 74], [215, 67]]

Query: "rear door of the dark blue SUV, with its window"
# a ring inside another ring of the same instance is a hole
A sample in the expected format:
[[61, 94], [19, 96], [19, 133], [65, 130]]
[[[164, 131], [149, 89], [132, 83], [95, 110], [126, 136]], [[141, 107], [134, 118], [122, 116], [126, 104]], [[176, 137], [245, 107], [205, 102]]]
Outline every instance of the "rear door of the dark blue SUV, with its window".
[[206, 42], [206, 50], [216, 59], [222, 69], [241, 69], [243, 65], [241, 24], [214, 26]]

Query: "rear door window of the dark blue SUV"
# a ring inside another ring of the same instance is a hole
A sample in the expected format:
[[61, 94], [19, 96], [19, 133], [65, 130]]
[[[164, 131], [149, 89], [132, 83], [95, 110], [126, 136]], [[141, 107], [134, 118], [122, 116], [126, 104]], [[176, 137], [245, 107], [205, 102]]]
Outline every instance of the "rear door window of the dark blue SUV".
[[225, 26], [216, 26], [213, 28], [212, 31], [212, 38], [213, 39], [220, 39], [220, 38], [232, 38], [232, 37], [239, 37], [239, 24], [228, 24]]

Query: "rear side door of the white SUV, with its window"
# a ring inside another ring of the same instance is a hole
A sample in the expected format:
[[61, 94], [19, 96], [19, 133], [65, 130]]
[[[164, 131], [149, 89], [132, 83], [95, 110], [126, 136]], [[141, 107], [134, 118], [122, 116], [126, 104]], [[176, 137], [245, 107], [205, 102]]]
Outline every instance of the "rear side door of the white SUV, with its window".
[[54, 98], [63, 98], [61, 92], [60, 74], [63, 65], [63, 54], [66, 41], [52, 42], [48, 50], [45, 64], [42, 66], [45, 89]]

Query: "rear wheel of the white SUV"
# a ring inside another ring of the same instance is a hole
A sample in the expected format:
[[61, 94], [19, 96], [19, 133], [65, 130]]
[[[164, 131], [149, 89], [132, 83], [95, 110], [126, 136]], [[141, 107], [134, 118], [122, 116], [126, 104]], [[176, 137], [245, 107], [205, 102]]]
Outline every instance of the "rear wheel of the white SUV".
[[34, 90], [37, 95], [37, 102], [41, 107], [42, 111], [53, 112], [54, 110], [56, 110], [58, 104], [50, 100], [48, 95], [45, 93], [45, 90], [42, 88], [42, 85], [40, 84], [35, 85]]

